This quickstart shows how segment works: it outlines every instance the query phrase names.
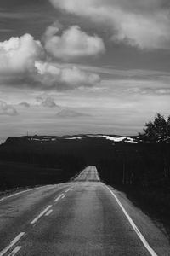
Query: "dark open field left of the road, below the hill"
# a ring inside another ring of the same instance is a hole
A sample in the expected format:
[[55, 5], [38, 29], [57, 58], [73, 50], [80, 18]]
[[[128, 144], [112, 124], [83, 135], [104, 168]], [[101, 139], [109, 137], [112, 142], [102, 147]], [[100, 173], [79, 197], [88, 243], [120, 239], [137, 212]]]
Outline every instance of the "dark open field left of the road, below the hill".
[[64, 179], [61, 169], [42, 168], [26, 163], [0, 162], [0, 191], [61, 183]]

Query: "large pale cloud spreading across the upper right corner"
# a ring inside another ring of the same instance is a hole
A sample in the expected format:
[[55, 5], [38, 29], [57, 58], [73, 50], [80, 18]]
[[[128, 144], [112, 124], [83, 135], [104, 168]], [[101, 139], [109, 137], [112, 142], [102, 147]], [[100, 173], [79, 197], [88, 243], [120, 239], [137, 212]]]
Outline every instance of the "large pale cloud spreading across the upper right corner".
[[170, 47], [170, 4], [167, 0], [49, 1], [68, 13], [108, 25], [113, 41], [123, 41], [141, 49]]

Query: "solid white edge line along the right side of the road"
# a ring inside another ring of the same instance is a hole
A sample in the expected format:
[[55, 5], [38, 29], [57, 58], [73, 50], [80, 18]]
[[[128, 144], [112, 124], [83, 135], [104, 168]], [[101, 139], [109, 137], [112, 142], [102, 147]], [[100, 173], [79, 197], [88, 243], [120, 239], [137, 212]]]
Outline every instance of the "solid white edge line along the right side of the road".
[[125, 216], [127, 217], [128, 222], [131, 224], [131, 226], [133, 227], [133, 230], [136, 232], [136, 234], [139, 236], [139, 239], [142, 241], [142, 243], [144, 244], [144, 247], [148, 250], [148, 252], [150, 253], [151, 256], [158, 256], [156, 254], [156, 252], [150, 247], [149, 243], [145, 240], [144, 236], [141, 234], [141, 232], [139, 231], [138, 227], [136, 226], [136, 224], [134, 224], [133, 219], [130, 218], [130, 216], [128, 215], [127, 211], [125, 210], [125, 208], [122, 206], [121, 201], [119, 201], [119, 199], [117, 198], [117, 196], [113, 193], [113, 191], [108, 188], [106, 185], [105, 187], [111, 192], [111, 195], [113, 195], [116, 199], [116, 202], [118, 203], [119, 207], [121, 207], [122, 212], [125, 214]]

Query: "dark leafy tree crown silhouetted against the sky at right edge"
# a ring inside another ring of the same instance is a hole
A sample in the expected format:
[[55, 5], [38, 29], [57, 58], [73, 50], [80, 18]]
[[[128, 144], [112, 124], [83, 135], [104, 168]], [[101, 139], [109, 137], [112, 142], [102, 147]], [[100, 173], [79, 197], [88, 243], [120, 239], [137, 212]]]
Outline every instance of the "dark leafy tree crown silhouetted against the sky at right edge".
[[170, 137], [170, 116], [167, 121], [160, 113], [156, 113], [154, 122], [145, 124], [144, 133], [139, 133], [139, 138], [145, 142], [164, 142]]

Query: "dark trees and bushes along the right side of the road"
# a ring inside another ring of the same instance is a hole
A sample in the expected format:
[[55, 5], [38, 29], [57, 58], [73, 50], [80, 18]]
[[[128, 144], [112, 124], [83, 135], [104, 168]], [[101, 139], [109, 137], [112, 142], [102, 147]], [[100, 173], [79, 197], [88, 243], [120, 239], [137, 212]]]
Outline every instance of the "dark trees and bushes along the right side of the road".
[[105, 183], [124, 191], [150, 217], [161, 221], [170, 237], [170, 117], [157, 113], [146, 123], [139, 143], [116, 145], [111, 160], [99, 162]]

